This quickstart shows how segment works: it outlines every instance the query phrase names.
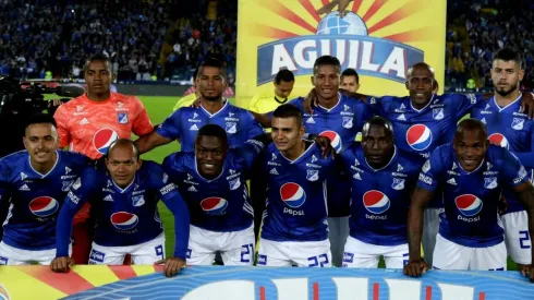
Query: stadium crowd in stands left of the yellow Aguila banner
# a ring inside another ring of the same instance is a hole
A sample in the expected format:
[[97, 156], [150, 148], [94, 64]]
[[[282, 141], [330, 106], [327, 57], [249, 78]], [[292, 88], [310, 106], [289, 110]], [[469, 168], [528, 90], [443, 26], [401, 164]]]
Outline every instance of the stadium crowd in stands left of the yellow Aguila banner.
[[235, 4], [220, 1], [209, 20], [207, 1], [193, 2], [1, 1], [0, 74], [78, 79], [85, 58], [100, 52], [119, 80], [190, 80], [206, 57], [234, 72]]

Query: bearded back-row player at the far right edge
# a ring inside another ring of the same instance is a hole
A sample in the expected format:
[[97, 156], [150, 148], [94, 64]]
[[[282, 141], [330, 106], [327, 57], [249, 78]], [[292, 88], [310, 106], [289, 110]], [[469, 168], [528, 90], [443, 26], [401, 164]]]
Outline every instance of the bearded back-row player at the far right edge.
[[[491, 68], [495, 96], [487, 103], [476, 105], [471, 110], [471, 117], [486, 124], [490, 143], [506, 147], [518, 156], [532, 180], [534, 122], [520, 112], [522, 94], [519, 85], [523, 76], [524, 70], [518, 52], [506, 48], [496, 52]], [[532, 260], [527, 214], [512, 190], [505, 189], [503, 196], [508, 203], [508, 209], [501, 217], [505, 242], [508, 253], [521, 271]]]

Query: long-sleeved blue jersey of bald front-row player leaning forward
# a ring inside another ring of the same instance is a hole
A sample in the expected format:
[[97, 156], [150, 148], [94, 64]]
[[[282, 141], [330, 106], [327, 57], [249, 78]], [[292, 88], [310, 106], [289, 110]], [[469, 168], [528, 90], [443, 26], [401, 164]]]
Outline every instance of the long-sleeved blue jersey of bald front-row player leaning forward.
[[189, 240], [189, 212], [174, 183], [160, 165], [144, 160], [130, 185], [121, 189], [111, 177], [87, 168], [72, 184], [58, 219], [58, 256], [68, 255], [74, 214], [88, 200], [98, 207], [95, 243], [105, 247], [141, 244], [163, 231], [157, 203], [174, 215], [174, 256], [185, 259]]

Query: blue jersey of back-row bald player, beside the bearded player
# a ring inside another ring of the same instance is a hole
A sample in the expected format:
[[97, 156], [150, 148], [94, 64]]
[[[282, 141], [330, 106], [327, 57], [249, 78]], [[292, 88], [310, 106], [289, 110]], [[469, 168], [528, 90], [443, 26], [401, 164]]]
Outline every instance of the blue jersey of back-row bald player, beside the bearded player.
[[481, 100], [475, 95], [434, 95], [422, 109], [415, 109], [409, 96], [369, 97], [368, 103], [392, 123], [400, 151], [428, 158], [437, 146], [452, 142], [458, 121]]

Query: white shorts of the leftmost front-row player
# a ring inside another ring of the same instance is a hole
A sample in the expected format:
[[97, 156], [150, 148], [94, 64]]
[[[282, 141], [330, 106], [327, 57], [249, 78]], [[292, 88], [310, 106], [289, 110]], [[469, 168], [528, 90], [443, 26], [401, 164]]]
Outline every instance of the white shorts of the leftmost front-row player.
[[[69, 247], [69, 253], [72, 249]], [[40, 265], [50, 265], [56, 259], [56, 248], [49, 250], [23, 250], [0, 242], [0, 265], [28, 265], [38, 263]]]

